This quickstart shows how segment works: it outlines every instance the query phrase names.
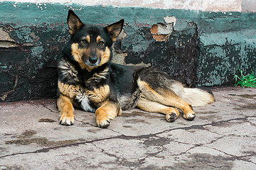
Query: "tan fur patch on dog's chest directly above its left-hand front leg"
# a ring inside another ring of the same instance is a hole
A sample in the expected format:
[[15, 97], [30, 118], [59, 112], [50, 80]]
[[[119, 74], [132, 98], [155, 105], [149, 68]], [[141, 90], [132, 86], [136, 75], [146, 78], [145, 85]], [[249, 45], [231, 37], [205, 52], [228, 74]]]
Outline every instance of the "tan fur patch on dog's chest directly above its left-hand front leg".
[[58, 89], [61, 94], [64, 96], [68, 96], [69, 98], [75, 98], [75, 96], [80, 93], [79, 86], [73, 86], [70, 84], [63, 84], [62, 82], [58, 81]]

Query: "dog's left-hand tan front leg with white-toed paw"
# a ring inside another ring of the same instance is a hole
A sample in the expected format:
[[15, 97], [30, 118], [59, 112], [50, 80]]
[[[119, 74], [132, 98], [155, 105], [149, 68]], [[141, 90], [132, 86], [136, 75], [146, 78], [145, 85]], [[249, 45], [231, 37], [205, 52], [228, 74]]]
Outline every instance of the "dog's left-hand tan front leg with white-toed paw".
[[60, 95], [57, 100], [58, 111], [60, 112], [61, 125], [73, 125], [74, 123], [74, 108], [70, 98]]

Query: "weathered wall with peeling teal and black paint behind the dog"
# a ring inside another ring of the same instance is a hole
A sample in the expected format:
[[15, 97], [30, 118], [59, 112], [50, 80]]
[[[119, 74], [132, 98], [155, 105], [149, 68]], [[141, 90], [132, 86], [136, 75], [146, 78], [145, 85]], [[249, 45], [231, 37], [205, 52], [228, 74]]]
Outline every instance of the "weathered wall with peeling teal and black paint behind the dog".
[[[242, 2], [233, 2], [240, 3], [235, 8], [241, 11]], [[56, 59], [68, 40], [68, 8], [85, 23], [105, 25], [124, 18], [124, 33], [114, 46], [119, 64], [159, 67], [188, 86], [233, 84], [238, 65], [244, 72], [256, 70], [255, 13], [0, 4], [0, 101], [55, 97]]]

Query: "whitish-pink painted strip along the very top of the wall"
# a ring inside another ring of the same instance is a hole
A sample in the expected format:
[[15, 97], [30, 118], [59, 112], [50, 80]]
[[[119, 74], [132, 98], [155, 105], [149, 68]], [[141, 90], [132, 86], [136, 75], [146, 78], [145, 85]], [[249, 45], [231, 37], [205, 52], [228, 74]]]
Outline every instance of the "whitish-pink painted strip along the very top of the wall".
[[[9, 1], [9, 0], [4, 0]], [[244, 6], [251, 6], [254, 0], [16, 0], [29, 3], [82, 4], [84, 6], [122, 6], [143, 8], [175, 8], [198, 11], [242, 11]], [[250, 2], [251, 1], [251, 2]], [[248, 3], [249, 2], [249, 3]]]

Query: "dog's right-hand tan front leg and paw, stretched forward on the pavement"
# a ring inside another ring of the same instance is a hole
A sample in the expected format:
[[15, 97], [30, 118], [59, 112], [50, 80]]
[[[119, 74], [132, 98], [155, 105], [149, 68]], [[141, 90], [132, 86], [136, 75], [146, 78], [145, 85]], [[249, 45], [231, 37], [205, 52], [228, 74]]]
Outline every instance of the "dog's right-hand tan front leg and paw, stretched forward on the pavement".
[[100, 128], [107, 128], [110, 125], [110, 120], [122, 113], [119, 103], [105, 101], [105, 103], [95, 111], [96, 123]]

